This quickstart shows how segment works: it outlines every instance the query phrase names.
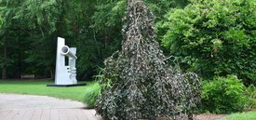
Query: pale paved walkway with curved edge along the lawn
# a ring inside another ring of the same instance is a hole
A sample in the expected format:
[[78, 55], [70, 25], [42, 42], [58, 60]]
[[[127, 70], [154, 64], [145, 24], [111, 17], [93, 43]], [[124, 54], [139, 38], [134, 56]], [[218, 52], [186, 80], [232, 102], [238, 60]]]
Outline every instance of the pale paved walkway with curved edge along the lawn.
[[46, 96], [0, 94], [0, 120], [101, 120], [78, 101]]

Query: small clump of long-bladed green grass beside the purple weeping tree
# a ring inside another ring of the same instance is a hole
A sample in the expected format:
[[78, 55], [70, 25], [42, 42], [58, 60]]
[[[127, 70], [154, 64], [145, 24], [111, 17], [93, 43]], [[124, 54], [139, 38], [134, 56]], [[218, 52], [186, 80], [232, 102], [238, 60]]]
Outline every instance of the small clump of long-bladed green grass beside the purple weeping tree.
[[98, 82], [89, 84], [88, 87], [86, 87], [84, 103], [88, 105], [88, 108], [93, 108], [95, 106], [96, 100], [100, 94], [101, 86]]

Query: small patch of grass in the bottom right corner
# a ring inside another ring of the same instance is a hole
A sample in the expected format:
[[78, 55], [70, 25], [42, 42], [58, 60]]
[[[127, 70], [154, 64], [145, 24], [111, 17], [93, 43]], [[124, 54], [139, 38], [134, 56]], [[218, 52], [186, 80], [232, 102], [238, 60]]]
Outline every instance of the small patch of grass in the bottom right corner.
[[232, 113], [222, 120], [256, 120], [256, 111], [245, 113]]

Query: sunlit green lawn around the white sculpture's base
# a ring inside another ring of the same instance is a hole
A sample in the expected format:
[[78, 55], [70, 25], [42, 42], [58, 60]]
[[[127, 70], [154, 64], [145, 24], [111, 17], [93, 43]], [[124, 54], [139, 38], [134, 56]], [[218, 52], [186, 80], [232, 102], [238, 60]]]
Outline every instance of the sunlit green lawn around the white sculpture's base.
[[61, 99], [82, 101], [85, 95], [84, 87], [47, 87], [47, 84], [54, 82], [49, 81], [1, 81], [0, 93], [30, 94], [50, 96]]

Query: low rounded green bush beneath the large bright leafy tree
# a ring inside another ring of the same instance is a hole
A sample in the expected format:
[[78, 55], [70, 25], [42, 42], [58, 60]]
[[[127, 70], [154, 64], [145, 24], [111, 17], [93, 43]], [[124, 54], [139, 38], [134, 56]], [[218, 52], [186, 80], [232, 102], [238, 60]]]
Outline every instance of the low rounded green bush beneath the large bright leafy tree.
[[241, 112], [248, 103], [246, 87], [235, 75], [202, 84], [202, 109], [209, 113]]

